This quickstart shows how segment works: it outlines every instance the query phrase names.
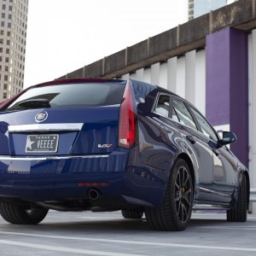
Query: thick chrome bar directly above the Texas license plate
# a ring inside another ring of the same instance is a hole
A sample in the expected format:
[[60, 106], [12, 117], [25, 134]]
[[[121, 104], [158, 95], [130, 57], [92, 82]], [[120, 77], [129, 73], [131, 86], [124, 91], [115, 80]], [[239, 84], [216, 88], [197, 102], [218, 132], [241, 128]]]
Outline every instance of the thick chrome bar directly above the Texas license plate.
[[35, 125], [9, 125], [9, 132], [22, 131], [81, 131], [83, 123], [61, 124], [35, 124]]

